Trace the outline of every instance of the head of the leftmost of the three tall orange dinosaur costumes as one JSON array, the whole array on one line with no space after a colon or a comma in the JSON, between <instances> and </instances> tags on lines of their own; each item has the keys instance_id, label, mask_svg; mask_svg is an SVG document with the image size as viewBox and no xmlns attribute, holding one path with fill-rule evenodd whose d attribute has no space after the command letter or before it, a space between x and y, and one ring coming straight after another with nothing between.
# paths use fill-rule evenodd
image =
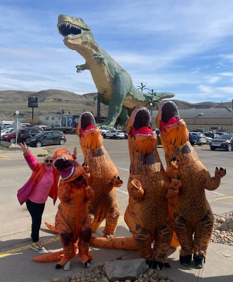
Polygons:
<instances>
[{"instance_id":1,"label":"head of the leftmost of the three tall orange dinosaur costumes","mask_svg":"<svg viewBox=\"0 0 233 282\"><path fill-rule=\"evenodd\" d=\"M79 116L77 135L81 148L97 149L102 146L103 137L96 126L93 115L89 112L84 112Z\"/></svg>"}]
</instances>

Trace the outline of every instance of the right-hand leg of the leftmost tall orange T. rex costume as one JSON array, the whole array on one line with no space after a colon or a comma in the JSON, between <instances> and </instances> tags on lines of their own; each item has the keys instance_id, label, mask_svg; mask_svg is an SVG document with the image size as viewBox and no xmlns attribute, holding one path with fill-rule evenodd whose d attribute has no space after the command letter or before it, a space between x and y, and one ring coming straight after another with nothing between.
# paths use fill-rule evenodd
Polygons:
<instances>
[{"instance_id":1,"label":"right-hand leg of the leftmost tall orange T. rex costume","mask_svg":"<svg viewBox=\"0 0 233 282\"><path fill-rule=\"evenodd\" d=\"M112 206L105 214L106 225L105 229L103 230L104 237L114 237L119 216L120 208L116 198L114 206Z\"/></svg>"}]
</instances>

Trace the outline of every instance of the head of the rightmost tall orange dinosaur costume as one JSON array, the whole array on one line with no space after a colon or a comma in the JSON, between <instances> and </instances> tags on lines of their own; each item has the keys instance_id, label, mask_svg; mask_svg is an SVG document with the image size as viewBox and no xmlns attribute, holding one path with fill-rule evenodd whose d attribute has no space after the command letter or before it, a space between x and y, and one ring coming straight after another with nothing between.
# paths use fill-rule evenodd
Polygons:
<instances>
[{"instance_id":1,"label":"head of the rightmost tall orange dinosaur costume","mask_svg":"<svg viewBox=\"0 0 233 282\"><path fill-rule=\"evenodd\" d=\"M186 123L180 118L177 105L172 101L160 104L156 124L162 142L170 145L183 145L188 141Z\"/></svg>"}]
</instances>

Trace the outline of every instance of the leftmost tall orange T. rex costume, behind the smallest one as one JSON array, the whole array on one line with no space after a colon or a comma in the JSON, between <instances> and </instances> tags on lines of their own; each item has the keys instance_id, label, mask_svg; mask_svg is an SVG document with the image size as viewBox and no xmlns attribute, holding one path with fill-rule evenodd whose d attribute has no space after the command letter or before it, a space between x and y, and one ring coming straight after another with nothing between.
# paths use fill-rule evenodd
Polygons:
<instances>
[{"instance_id":1,"label":"leftmost tall orange T. rex costume, behind the smallest one","mask_svg":"<svg viewBox=\"0 0 233 282\"><path fill-rule=\"evenodd\" d=\"M103 146L103 137L91 113L80 115L77 135L84 155L84 168L89 176L88 184L94 191L94 198L89 201L88 207L92 231L96 232L106 219L104 237L113 238L120 215L115 187L120 187L122 181Z\"/></svg>"}]
</instances>

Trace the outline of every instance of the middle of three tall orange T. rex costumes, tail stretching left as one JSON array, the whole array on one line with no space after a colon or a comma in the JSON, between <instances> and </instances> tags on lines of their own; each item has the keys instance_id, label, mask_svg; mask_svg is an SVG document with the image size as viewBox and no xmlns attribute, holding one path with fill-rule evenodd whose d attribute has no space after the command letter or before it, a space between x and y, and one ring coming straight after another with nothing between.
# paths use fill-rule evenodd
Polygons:
<instances>
[{"instance_id":1,"label":"middle of three tall orange T. rex costumes, tail stretching left","mask_svg":"<svg viewBox=\"0 0 233 282\"><path fill-rule=\"evenodd\" d=\"M161 270L171 244L173 228L168 215L168 198L178 193L181 181L168 179L158 155L157 134L151 130L151 117L145 107L137 107L126 122L130 154L128 180L129 204L125 222L147 266L157 264ZM154 247L151 243L155 240ZM133 249L129 237L94 238L92 243L104 247ZM153 263L154 261L154 263Z\"/></svg>"}]
</instances>

